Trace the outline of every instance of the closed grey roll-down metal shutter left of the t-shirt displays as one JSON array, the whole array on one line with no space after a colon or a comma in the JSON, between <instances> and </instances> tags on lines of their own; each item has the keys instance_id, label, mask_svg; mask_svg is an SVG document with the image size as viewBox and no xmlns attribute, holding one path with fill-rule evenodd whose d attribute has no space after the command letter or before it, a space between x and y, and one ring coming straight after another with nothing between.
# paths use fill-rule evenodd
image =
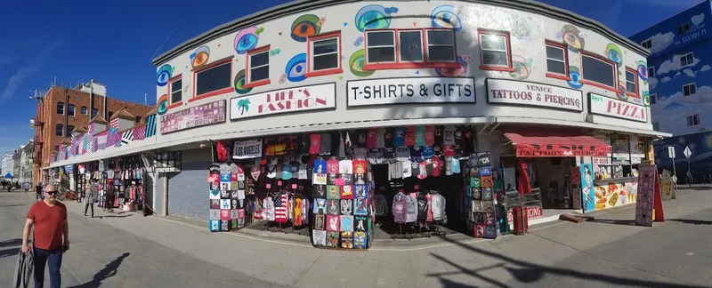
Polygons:
<instances>
[{"instance_id":1,"label":"closed grey roll-down metal shutter left of the t-shirt displays","mask_svg":"<svg viewBox=\"0 0 712 288\"><path fill-rule=\"evenodd\" d=\"M181 172L168 173L168 215L206 221L210 149L181 151L181 162Z\"/></svg>"}]
</instances>

